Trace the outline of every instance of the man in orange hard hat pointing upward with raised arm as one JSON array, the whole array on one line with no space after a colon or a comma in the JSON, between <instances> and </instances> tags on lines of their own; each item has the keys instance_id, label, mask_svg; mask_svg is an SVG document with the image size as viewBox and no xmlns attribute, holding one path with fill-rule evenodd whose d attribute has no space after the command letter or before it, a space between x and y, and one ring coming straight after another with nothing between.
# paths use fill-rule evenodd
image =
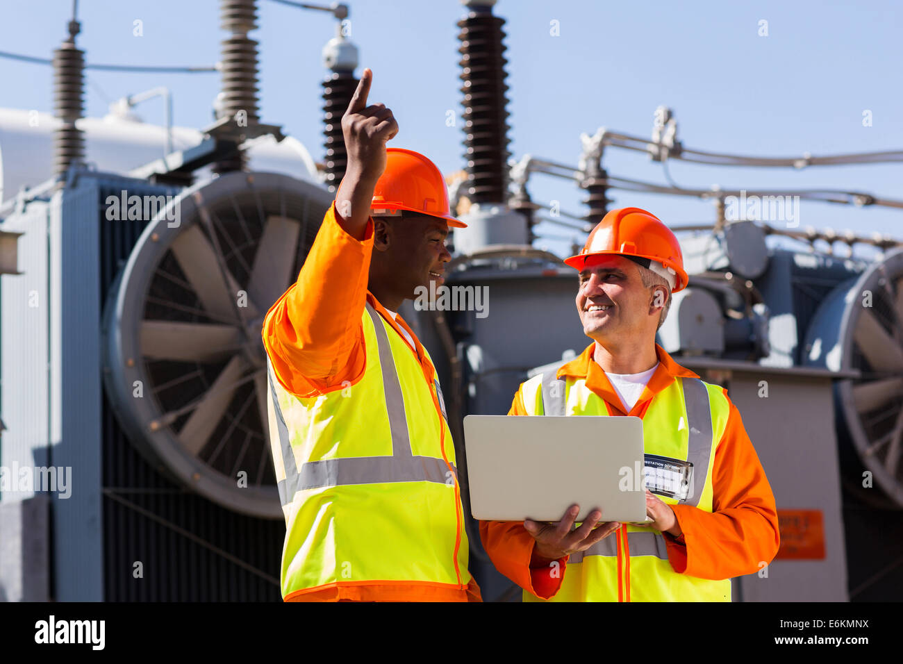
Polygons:
<instances>
[{"instance_id":1,"label":"man in orange hard hat pointing upward with raised arm","mask_svg":"<svg viewBox=\"0 0 903 664\"><path fill-rule=\"evenodd\" d=\"M430 354L396 312L442 283L452 217L435 164L388 148L364 70L349 162L298 280L266 314L285 601L479 601Z\"/></svg>"}]
</instances>

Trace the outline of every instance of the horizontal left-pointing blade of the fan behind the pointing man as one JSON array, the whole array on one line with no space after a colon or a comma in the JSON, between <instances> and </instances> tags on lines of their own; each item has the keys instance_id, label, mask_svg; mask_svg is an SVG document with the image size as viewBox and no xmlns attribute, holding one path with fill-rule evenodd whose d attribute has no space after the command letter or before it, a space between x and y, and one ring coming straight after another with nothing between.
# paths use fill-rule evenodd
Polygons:
<instances>
[{"instance_id":1,"label":"horizontal left-pointing blade of the fan behind the pointing man","mask_svg":"<svg viewBox=\"0 0 903 664\"><path fill-rule=\"evenodd\" d=\"M242 342L232 325L142 321L141 354L154 360L210 362L234 354Z\"/></svg>"}]
</instances>

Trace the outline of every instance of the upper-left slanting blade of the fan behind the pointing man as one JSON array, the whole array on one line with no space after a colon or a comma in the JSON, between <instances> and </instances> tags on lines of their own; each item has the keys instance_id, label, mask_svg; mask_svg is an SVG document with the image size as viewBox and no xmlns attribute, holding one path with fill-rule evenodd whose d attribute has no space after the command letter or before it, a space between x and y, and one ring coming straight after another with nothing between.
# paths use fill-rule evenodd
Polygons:
<instances>
[{"instance_id":1,"label":"upper-left slanting blade of the fan behind the pointing man","mask_svg":"<svg viewBox=\"0 0 903 664\"><path fill-rule=\"evenodd\" d=\"M235 320L240 289L234 285L234 278L231 284L223 279L217 252L203 231L197 225L189 226L179 233L171 248L204 311L219 320Z\"/></svg>"}]
</instances>

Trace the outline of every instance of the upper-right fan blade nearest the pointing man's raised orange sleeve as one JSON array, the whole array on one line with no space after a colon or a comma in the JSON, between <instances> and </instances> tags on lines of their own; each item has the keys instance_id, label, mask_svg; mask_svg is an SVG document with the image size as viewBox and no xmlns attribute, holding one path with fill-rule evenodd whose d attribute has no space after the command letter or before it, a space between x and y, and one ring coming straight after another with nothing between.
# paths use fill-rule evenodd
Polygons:
<instances>
[{"instance_id":1,"label":"upper-right fan blade nearest the pointing man's raised orange sleeve","mask_svg":"<svg viewBox=\"0 0 903 664\"><path fill-rule=\"evenodd\" d=\"M267 218L247 285L247 294L261 311L268 310L292 283L300 233L301 224L296 220Z\"/></svg>"}]
</instances>

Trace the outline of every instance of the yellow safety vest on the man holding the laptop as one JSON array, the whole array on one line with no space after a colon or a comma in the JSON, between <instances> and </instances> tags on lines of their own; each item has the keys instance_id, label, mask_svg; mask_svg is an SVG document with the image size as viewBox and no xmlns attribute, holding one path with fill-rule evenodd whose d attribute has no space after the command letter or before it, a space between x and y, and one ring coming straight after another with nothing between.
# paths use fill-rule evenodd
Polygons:
<instances>
[{"instance_id":1,"label":"yellow safety vest on the man holding the laptop","mask_svg":"<svg viewBox=\"0 0 903 664\"><path fill-rule=\"evenodd\" d=\"M586 387L585 379L560 380L555 371L548 371L527 380L521 390L527 415L609 415L604 399ZM700 379L675 379L652 398L643 416L644 452L693 463L688 498L658 498L712 511L712 464L729 411L721 388ZM730 602L731 579L677 574L668 562L665 537L652 528L628 525L626 537L620 528L571 554L552 599L525 590L524 601Z\"/></svg>"}]
</instances>

